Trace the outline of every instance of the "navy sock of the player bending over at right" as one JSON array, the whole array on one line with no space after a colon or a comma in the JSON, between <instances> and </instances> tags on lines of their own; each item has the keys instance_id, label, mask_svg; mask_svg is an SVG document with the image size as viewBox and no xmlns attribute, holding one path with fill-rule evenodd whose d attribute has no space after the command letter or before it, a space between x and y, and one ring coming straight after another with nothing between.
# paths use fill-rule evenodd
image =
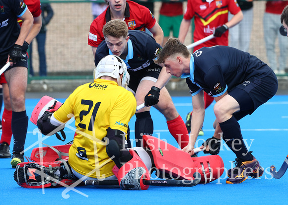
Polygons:
<instances>
[{"instance_id":1,"label":"navy sock of the player bending over at right","mask_svg":"<svg viewBox=\"0 0 288 205\"><path fill-rule=\"evenodd\" d=\"M223 139L229 148L242 161L249 161L251 155L244 144L241 129L238 121L232 116L229 120L219 123L223 132ZM234 143L233 143L234 142Z\"/></svg>"}]
</instances>

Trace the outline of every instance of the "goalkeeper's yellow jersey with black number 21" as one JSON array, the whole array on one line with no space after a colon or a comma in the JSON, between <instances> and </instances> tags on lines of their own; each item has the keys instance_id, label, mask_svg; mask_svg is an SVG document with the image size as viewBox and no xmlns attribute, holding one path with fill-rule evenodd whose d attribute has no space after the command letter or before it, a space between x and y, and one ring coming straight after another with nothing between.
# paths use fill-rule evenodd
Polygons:
<instances>
[{"instance_id":1,"label":"goalkeeper's yellow jersey with black number 21","mask_svg":"<svg viewBox=\"0 0 288 205\"><path fill-rule=\"evenodd\" d=\"M127 134L128 123L136 112L132 92L111 80L96 79L76 88L54 113L66 123L74 115L76 136L69 150L69 164L79 174L93 178L113 175L115 163L106 152L106 130ZM126 135L127 137L127 135Z\"/></svg>"}]
</instances>

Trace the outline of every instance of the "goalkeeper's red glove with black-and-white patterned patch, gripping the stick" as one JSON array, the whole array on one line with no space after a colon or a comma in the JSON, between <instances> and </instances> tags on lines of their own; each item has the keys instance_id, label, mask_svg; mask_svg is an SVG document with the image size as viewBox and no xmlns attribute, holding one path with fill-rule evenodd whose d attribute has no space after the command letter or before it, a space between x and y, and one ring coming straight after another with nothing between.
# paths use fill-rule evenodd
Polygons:
<instances>
[{"instance_id":1,"label":"goalkeeper's red glove with black-and-white patterned patch, gripping the stick","mask_svg":"<svg viewBox=\"0 0 288 205\"><path fill-rule=\"evenodd\" d=\"M147 190L149 186L143 184L143 179L150 180L149 171L138 154L130 149L133 158L126 162L120 169L113 168L113 173L118 179L123 190Z\"/></svg>"}]
</instances>

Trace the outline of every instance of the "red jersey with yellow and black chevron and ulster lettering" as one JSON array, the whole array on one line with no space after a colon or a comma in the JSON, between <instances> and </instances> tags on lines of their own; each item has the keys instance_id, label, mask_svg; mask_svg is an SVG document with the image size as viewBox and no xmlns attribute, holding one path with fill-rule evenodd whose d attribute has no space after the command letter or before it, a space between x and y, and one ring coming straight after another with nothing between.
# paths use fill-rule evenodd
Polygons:
<instances>
[{"instance_id":1,"label":"red jersey with yellow and black chevron and ulster lettering","mask_svg":"<svg viewBox=\"0 0 288 205\"><path fill-rule=\"evenodd\" d=\"M240 11L236 0L213 0L212 2L203 2L202 0L188 0L184 19L194 18L195 31L194 42L199 41L206 36L213 34L214 30L228 22L228 12L233 15ZM194 47L194 51L202 47L210 46L228 46L228 31L221 37L213 38L199 46Z\"/></svg>"}]
</instances>

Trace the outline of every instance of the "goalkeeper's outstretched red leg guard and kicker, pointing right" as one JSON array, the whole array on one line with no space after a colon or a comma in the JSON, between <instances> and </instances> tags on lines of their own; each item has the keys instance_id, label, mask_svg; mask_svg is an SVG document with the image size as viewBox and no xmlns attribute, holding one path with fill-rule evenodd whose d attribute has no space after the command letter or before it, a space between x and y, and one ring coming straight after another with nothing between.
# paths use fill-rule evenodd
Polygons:
<instances>
[{"instance_id":1,"label":"goalkeeper's outstretched red leg guard and kicker, pointing right","mask_svg":"<svg viewBox=\"0 0 288 205\"><path fill-rule=\"evenodd\" d=\"M219 155L190 157L187 152L147 135L143 136L143 145L150 150L153 156L152 164L161 176L192 180L193 174L199 172L200 183L206 184L218 179L224 172L224 163Z\"/></svg>"}]
</instances>

